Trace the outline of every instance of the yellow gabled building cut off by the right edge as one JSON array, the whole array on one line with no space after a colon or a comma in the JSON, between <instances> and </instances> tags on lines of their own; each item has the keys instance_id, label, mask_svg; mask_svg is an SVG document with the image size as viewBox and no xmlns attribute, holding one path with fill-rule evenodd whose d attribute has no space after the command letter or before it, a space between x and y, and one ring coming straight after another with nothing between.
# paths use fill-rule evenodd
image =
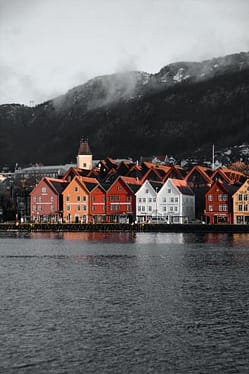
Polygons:
<instances>
[{"instance_id":1,"label":"yellow gabled building cut off by the right edge","mask_svg":"<svg viewBox=\"0 0 249 374\"><path fill-rule=\"evenodd\" d=\"M233 194L233 222L249 224L249 179Z\"/></svg>"}]
</instances>

